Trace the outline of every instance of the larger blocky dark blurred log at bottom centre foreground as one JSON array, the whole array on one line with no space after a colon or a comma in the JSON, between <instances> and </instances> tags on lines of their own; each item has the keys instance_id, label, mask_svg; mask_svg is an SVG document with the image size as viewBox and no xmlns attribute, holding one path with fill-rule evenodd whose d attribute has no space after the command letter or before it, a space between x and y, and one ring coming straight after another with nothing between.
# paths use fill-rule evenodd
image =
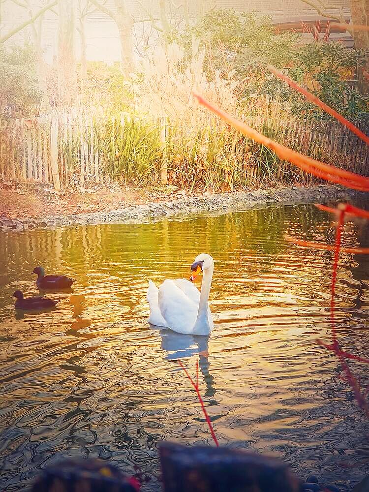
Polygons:
<instances>
[{"instance_id":1,"label":"larger blocky dark blurred log at bottom centre foreground","mask_svg":"<svg viewBox=\"0 0 369 492\"><path fill-rule=\"evenodd\" d=\"M173 443L160 446L165 492L298 492L301 482L282 461L253 453Z\"/></svg>"}]
</instances>

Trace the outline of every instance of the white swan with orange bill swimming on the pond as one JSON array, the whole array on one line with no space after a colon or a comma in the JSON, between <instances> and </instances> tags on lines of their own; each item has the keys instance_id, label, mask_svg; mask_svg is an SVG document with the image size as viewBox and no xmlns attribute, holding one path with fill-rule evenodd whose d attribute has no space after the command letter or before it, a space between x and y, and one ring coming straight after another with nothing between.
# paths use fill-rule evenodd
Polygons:
<instances>
[{"instance_id":1,"label":"white swan with orange bill swimming on the pond","mask_svg":"<svg viewBox=\"0 0 369 492\"><path fill-rule=\"evenodd\" d=\"M190 281L184 278L164 280L157 288L149 280L146 299L150 304L149 323L170 328L174 332L209 335L214 328L212 313L208 306L214 261L209 254L196 256L191 265ZM192 281L203 272L201 293Z\"/></svg>"}]
</instances>

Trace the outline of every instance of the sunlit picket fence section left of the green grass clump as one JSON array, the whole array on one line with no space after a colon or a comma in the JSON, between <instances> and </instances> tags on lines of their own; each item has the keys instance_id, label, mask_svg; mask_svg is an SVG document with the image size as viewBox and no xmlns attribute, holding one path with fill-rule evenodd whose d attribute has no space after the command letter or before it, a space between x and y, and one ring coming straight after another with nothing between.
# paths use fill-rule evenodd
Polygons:
<instances>
[{"instance_id":1,"label":"sunlit picket fence section left of the green grass clump","mask_svg":"<svg viewBox=\"0 0 369 492\"><path fill-rule=\"evenodd\" d=\"M0 176L4 180L50 183L60 191L104 179L91 118L62 114L3 121L0 137ZM74 162L68 159L70 151L75 154Z\"/></svg>"}]
</instances>

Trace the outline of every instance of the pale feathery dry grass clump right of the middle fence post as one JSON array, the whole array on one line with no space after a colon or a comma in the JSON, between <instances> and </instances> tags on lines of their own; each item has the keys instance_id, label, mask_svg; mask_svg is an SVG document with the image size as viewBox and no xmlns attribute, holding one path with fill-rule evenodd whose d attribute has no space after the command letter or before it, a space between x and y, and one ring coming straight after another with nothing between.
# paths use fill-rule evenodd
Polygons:
<instances>
[{"instance_id":1,"label":"pale feathery dry grass clump right of the middle fence post","mask_svg":"<svg viewBox=\"0 0 369 492\"><path fill-rule=\"evenodd\" d=\"M269 150L240 138L204 111L191 92L204 94L270 136L275 136L281 120L291 122L289 108L257 93L243 98L243 88L233 70L226 74L215 71L209 80L203 69L204 58L205 52L193 39L189 58L172 43L142 64L135 109L141 117L150 120L159 115L166 121L170 182L215 191L292 183L296 178L301 181L302 177L287 166L280 171Z\"/></svg>"}]
</instances>

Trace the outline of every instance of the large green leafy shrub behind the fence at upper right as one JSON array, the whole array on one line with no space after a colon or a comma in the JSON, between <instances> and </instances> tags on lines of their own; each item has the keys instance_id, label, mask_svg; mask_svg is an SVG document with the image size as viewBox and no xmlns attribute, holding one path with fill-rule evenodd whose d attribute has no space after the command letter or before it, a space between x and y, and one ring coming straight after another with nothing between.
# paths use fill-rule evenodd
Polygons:
<instances>
[{"instance_id":1,"label":"large green leafy shrub behind the fence at upper right","mask_svg":"<svg viewBox=\"0 0 369 492\"><path fill-rule=\"evenodd\" d=\"M347 49L335 42L304 44L298 34L276 33L268 16L257 12L237 14L233 10L212 10L185 30L179 39L187 54L193 37L199 39L205 50L204 69L208 77L212 78L216 70L226 75L234 69L242 83L243 97L280 99L289 103L300 118L329 118L270 75L266 66L272 63L347 118L368 115L368 95L360 95L347 82L355 77L357 66L365 64L365 50Z\"/></svg>"}]
</instances>

